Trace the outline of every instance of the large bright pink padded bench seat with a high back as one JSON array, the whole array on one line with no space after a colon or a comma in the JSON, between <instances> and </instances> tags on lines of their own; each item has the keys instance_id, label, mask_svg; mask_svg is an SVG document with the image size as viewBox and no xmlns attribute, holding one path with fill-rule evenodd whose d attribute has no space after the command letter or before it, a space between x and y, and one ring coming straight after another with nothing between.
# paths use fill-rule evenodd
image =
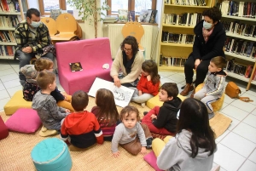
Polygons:
<instances>
[{"instance_id":1,"label":"large bright pink padded bench seat with a high back","mask_svg":"<svg viewBox=\"0 0 256 171\"><path fill-rule=\"evenodd\" d=\"M60 83L67 94L78 90L89 92L96 77L112 81L110 67L113 61L108 38L56 43L55 48ZM77 62L83 70L71 71L69 64Z\"/></svg>"}]
</instances>

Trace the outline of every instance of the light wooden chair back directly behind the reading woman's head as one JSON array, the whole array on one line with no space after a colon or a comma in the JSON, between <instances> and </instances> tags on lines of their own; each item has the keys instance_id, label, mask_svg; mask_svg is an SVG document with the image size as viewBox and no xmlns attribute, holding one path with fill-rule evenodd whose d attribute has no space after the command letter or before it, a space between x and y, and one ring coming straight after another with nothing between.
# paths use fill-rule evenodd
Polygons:
<instances>
[{"instance_id":1,"label":"light wooden chair back directly behind the reading woman's head","mask_svg":"<svg viewBox=\"0 0 256 171\"><path fill-rule=\"evenodd\" d=\"M143 46L140 44L141 39L144 35L143 26L137 21L130 21L125 24L122 28L122 34L124 37L133 36L137 39L140 51L145 51Z\"/></svg>"}]
</instances>

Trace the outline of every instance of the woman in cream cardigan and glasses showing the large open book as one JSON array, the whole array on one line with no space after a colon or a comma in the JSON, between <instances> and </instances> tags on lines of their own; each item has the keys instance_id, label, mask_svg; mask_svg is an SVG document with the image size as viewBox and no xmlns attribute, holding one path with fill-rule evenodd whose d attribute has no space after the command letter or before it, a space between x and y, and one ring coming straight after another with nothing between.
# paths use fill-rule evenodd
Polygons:
<instances>
[{"instance_id":1,"label":"woman in cream cardigan and glasses showing the large open book","mask_svg":"<svg viewBox=\"0 0 256 171\"><path fill-rule=\"evenodd\" d=\"M136 88L143 61L143 53L138 49L136 38L125 37L111 66L110 75L113 77L114 85Z\"/></svg>"}]
</instances>

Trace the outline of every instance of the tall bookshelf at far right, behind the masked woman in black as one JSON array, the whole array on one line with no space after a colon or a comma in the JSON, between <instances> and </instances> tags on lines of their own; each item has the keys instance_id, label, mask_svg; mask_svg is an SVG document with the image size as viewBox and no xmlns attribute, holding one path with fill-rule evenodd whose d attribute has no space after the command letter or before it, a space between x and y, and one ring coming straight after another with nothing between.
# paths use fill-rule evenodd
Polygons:
<instances>
[{"instance_id":1,"label":"tall bookshelf at far right, behind the masked woman in black","mask_svg":"<svg viewBox=\"0 0 256 171\"><path fill-rule=\"evenodd\" d=\"M233 23L238 23L239 25L244 25L244 26L255 26L256 27L256 18L255 16L253 17L252 15L248 15L247 17L244 16L244 12L246 9L244 9L244 6L241 6L241 2L243 1L234 1L236 2L236 5L238 6L237 9L232 8L230 6L230 3L229 3L229 8L226 9L225 7L227 6L227 4L224 4L224 3L227 3L227 2L224 2L222 1L221 3L221 6L220 6L220 9L222 10L222 13L223 13L223 16L222 16L222 20L221 22L233 22ZM233 4L234 4L233 2ZM254 3L254 5L256 5L255 1L253 0L247 0L245 3ZM252 5L252 4L251 4ZM230 11L230 8L232 9ZM246 14L250 14L252 13L252 11L248 11L246 12ZM236 27L236 28L235 28ZM251 47L251 51L247 51L247 55L241 55L239 53L237 53L238 49L239 49L239 44L238 43L233 43L233 46L234 44L236 44L235 48L232 48L232 50L229 50L229 52L227 52L227 49L229 49L229 46L225 45L225 55L226 55L226 58L227 60L231 60L231 59L235 59L235 61L237 63L240 63L241 65L244 65L244 66L253 66L253 69L252 69L252 73L251 73L251 76L250 77L245 77L245 73L241 73L241 74L238 74L238 73L234 73L236 72L235 69L234 71L229 71L228 72L228 77L234 77L238 80L241 80L243 82L246 82L247 83L247 90L250 88L251 84L253 85L256 85L256 81L253 80L253 73L254 71L256 71L256 58L253 58L253 53L256 53L255 52L255 49L256 49L256 37L253 37L253 30L252 31L252 34L251 35L247 35L247 36L244 36L242 35L244 32L242 32L242 27L241 26L235 26L232 31L227 31L227 28L224 28L226 29L226 36L227 38L230 38L231 40L234 39L236 42L247 42L247 49L249 48L249 43L252 43L253 46ZM239 29L237 28L240 28L241 31L238 31ZM251 27L253 28L253 27ZM237 29L237 31L236 31ZM246 30L246 29L244 29ZM250 29L249 29L250 30ZM250 32L250 31L249 31ZM228 42L228 41L227 41ZM228 44L228 43L225 43L225 44ZM232 44L232 43L230 43ZM237 45L238 44L238 45ZM231 46L231 45L230 45ZM237 48L236 48L237 47ZM254 48L255 49L254 49ZM235 49L235 52L234 52L234 49ZM233 51L233 52L232 52ZM249 52L249 53L248 53ZM243 71L242 71L243 72Z\"/></svg>"}]
</instances>

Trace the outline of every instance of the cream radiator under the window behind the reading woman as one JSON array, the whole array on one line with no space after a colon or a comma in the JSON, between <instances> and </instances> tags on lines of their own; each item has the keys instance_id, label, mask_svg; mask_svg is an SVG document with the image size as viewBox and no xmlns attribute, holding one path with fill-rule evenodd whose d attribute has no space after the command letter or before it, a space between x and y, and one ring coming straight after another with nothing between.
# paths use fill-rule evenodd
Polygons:
<instances>
[{"instance_id":1,"label":"cream radiator under the window behind the reading woman","mask_svg":"<svg viewBox=\"0 0 256 171\"><path fill-rule=\"evenodd\" d=\"M115 58L115 55L120 47L120 43L124 40L125 37L122 35L122 28L125 24L107 24L104 26L104 37L108 37L110 41L111 55L112 58ZM152 25L143 25L144 35L141 40L141 45L145 49L144 58L145 60L150 60L150 55L152 47L157 35L157 29ZM156 48L156 46L154 46Z\"/></svg>"}]
</instances>

